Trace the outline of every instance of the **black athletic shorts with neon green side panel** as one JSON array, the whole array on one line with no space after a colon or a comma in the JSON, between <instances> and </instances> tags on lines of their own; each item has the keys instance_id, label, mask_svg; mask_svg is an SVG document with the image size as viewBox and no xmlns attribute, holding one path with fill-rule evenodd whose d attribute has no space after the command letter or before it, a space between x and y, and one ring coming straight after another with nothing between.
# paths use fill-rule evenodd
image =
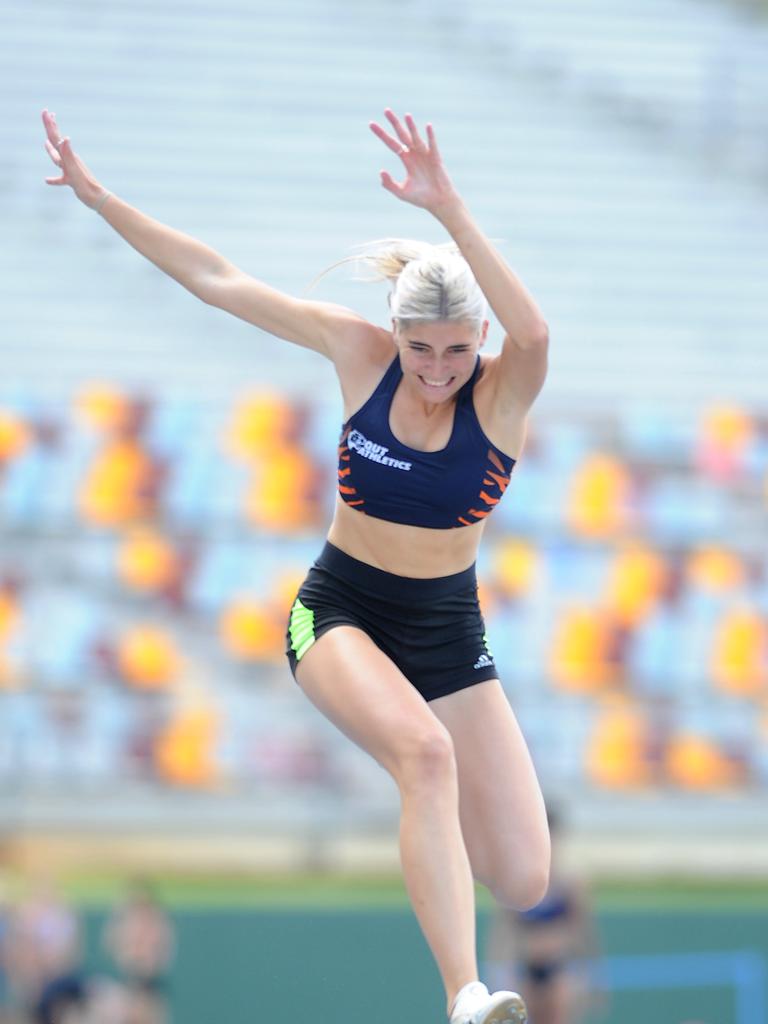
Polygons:
<instances>
[{"instance_id":1,"label":"black athletic shorts with neon green side panel","mask_svg":"<svg viewBox=\"0 0 768 1024\"><path fill-rule=\"evenodd\" d=\"M426 700L497 678L474 565L447 577L400 577L326 542L291 610L286 653L294 678L334 626L367 633Z\"/></svg>"}]
</instances>

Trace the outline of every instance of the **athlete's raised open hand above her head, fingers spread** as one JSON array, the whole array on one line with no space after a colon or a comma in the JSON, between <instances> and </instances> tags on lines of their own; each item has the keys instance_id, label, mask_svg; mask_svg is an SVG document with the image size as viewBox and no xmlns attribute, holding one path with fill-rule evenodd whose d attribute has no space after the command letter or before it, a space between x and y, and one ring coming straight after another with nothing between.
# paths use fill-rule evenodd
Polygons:
<instances>
[{"instance_id":1,"label":"athlete's raised open hand above her head, fingers spread","mask_svg":"<svg viewBox=\"0 0 768 1024\"><path fill-rule=\"evenodd\" d=\"M442 166L432 125L427 125L425 142L410 114L406 115L404 126L389 108L384 114L397 137L394 138L375 121L370 123L371 131L378 135L392 153L397 154L406 167L407 176L400 184L392 179L388 171L382 171L382 185L397 199L420 206L430 213L436 213L446 204L457 202L459 196Z\"/></svg>"}]
</instances>

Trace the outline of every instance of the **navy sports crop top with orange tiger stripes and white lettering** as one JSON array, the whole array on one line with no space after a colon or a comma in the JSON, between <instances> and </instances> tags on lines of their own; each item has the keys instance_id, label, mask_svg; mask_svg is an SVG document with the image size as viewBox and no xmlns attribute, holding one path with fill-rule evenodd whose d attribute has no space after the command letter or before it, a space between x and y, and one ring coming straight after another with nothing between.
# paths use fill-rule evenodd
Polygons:
<instances>
[{"instance_id":1,"label":"navy sports crop top with orange tiger stripes and white lettering","mask_svg":"<svg viewBox=\"0 0 768 1024\"><path fill-rule=\"evenodd\" d=\"M451 529L488 516L507 488L515 459L492 443L477 421L474 373L456 398L454 429L444 449L420 452L389 429L392 396L402 377L397 354L368 401L341 428L339 493L346 504L377 519Z\"/></svg>"}]
</instances>

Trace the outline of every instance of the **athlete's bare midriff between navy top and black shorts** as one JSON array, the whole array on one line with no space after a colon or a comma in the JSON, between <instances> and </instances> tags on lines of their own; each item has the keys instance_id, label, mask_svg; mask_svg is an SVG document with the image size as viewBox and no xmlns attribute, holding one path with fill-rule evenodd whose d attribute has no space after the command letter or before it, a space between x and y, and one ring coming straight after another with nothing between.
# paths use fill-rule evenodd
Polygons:
<instances>
[{"instance_id":1,"label":"athlete's bare midriff between navy top and black shorts","mask_svg":"<svg viewBox=\"0 0 768 1024\"><path fill-rule=\"evenodd\" d=\"M483 526L484 522L456 529L404 526L349 508L337 495L328 540L358 561L423 580L469 568L477 557Z\"/></svg>"}]
</instances>

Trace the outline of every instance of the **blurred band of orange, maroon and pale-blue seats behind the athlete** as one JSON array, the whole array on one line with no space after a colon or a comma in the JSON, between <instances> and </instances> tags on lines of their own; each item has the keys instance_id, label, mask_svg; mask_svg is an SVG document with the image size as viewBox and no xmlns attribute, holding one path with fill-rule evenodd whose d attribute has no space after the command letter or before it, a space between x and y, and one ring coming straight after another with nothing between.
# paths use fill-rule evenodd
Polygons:
<instances>
[{"instance_id":1,"label":"blurred band of orange, maroon and pale-blue seats behind the athlete","mask_svg":"<svg viewBox=\"0 0 768 1024\"><path fill-rule=\"evenodd\" d=\"M307 748L298 693L271 737L279 758L258 735L275 694L295 692L285 622L329 516L336 427L307 400L261 394L188 403L195 429L172 441L172 400L115 388L121 415L84 420L97 399L2 402L5 784L18 764L48 785L117 782L130 764L159 784L316 783L306 759L330 764L334 741ZM736 418L726 430L722 410L703 410L672 452L649 441L667 434L650 412L639 440L621 413L532 423L479 570L492 648L531 734L545 719L557 728L561 701L568 731L579 709L573 756L535 743L556 785L768 783L768 418ZM275 446L290 472L270 468Z\"/></svg>"}]
</instances>

